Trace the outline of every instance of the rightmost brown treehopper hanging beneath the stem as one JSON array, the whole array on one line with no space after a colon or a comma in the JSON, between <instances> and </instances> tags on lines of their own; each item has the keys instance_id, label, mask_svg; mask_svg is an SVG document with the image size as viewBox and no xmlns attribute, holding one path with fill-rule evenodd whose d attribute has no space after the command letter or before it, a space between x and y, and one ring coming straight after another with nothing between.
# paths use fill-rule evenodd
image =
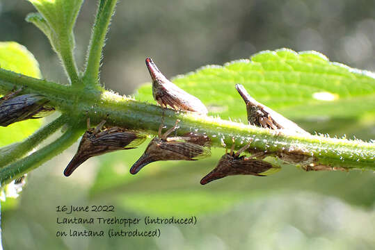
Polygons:
<instances>
[{"instance_id":1,"label":"rightmost brown treehopper hanging beneath the stem","mask_svg":"<svg viewBox=\"0 0 375 250\"><path fill-rule=\"evenodd\" d=\"M247 144L234 153L234 144L230 153L226 152L224 156L218 161L218 165L212 172L209 172L205 177L200 180L200 184L205 185L211 181L215 181L219 178L224 178L226 176L238 175L238 174L250 174L253 176L266 176L262 173L266 172L274 167L271 163L267 163L264 160L257 160L254 158L248 158L245 156L240 156L242 152L246 151L250 147Z\"/></svg>"}]
</instances>

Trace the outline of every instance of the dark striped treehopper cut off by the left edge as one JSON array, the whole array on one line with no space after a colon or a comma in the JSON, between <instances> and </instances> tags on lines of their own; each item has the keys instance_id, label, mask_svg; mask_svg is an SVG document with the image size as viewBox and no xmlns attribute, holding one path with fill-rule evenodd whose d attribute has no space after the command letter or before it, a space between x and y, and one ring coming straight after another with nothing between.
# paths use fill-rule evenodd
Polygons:
<instances>
[{"instance_id":1,"label":"dark striped treehopper cut off by the left edge","mask_svg":"<svg viewBox=\"0 0 375 250\"><path fill-rule=\"evenodd\" d=\"M46 106L49 100L40 94L13 95L14 93L10 93L0 101L0 126L45 117L54 111L54 108Z\"/></svg>"}]
</instances>

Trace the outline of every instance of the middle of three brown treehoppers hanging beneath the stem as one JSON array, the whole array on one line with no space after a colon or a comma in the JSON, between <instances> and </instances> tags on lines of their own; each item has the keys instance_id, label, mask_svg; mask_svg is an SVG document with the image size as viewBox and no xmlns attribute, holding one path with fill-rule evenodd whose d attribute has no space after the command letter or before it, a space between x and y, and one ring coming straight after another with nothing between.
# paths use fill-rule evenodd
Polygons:
<instances>
[{"instance_id":1,"label":"middle of three brown treehoppers hanging beneath the stem","mask_svg":"<svg viewBox=\"0 0 375 250\"><path fill-rule=\"evenodd\" d=\"M159 127L158 136L152 139L145 153L131 167L131 174L138 173L145 165L158 160L198 160L211 155L209 148L189 142L189 137L168 138L168 135L177 129L177 122L163 135L161 135L163 125Z\"/></svg>"}]
</instances>

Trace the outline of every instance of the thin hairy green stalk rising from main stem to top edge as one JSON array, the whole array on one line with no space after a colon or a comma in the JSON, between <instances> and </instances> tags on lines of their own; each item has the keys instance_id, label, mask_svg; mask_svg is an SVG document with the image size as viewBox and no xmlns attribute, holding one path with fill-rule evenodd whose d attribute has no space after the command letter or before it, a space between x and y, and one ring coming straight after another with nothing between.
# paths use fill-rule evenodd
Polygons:
<instances>
[{"instance_id":1,"label":"thin hairy green stalk rising from main stem to top edge","mask_svg":"<svg viewBox=\"0 0 375 250\"><path fill-rule=\"evenodd\" d=\"M104 40L109 24L111 23L111 17L115 11L116 3L117 0L99 1L93 33L91 34L90 44L88 46L86 71L83 76L84 83L86 84L95 85L99 83L99 68L100 60L102 60Z\"/></svg>"}]
</instances>

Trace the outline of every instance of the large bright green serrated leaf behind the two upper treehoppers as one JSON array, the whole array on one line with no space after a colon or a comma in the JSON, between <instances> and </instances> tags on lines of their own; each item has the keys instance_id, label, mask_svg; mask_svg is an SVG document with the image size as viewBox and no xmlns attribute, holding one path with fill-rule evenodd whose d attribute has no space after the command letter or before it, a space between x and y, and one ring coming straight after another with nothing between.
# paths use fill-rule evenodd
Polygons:
<instances>
[{"instance_id":1,"label":"large bright green serrated leaf behind the two upper treehoppers","mask_svg":"<svg viewBox=\"0 0 375 250\"><path fill-rule=\"evenodd\" d=\"M374 74L331 63L315 51L262 51L250 60L202 67L177 76L173 83L205 103L210 115L223 119L247 120L236 83L257 101L292 119L375 114ZM150 84L142 86L136 97L154 102Z\"/></svg>"}]
</instances>

